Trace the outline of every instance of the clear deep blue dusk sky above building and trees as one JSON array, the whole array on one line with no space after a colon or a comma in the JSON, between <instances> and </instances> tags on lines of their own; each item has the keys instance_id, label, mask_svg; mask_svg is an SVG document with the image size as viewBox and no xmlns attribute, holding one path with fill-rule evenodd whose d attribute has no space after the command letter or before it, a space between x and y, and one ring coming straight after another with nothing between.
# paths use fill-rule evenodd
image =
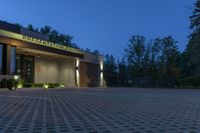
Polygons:
<instances>
[{"instance_id":1,"label":"clear deep blue dusk sky above building and trees","mask_svg":"<svg viewBox=\"0 0 200 133\"><path fill-rule=\"evenodd\" d=\"M121 57L132 35L172 35L184 50L195 0L1 0L0 20L49 25L81 48Z\"/></svg>"}]
</instances>

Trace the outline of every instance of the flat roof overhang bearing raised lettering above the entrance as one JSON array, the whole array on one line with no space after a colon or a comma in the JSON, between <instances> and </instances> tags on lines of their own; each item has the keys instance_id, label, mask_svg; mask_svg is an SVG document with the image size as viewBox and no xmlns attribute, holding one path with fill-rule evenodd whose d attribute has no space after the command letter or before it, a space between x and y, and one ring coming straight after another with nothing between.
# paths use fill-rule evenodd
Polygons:
<instances>
[{"instance_id":1,"label":"flat roof overhang bearing raised lettering above the entrance","mask_svg":"<svg viewBox=\"0 0 200 133\"><path fill-rule=\"evenodd\" d=\"M40 51L51 52L64 56L84 58L83 52L79 49L48 42L45 40L29 37L0 29L0 43L10 44L16 47L35 49Z\"/></svg>"}]
</instances>

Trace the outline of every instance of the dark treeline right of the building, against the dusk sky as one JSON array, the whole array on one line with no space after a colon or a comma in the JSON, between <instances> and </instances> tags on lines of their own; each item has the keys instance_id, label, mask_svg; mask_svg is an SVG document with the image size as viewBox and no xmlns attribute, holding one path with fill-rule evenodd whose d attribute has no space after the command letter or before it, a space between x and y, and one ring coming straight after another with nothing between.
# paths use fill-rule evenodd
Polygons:
<instances>
[{"instance_id":1,"label":"dark treeline right of the building, against the dusk sky","mask_svg":"<svg viewBox=\"0 0 200 133\"><path fill-rule=\"evenodd\" d=\"M104 58L104 77L108 86L199 87L200 86L200 1L195 3L191 35L180 52L172 36L146 40L130 38L124 57Z\"/></svg>"}]
</instances>

